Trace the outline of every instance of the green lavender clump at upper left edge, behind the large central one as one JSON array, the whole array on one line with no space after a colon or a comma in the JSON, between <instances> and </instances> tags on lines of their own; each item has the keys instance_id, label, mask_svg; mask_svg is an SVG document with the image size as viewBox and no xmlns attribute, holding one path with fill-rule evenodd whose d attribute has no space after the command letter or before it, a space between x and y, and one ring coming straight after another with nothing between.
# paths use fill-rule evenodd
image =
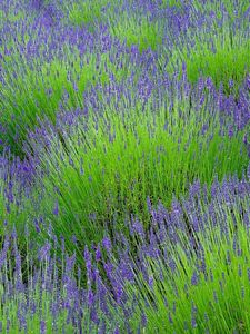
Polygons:
<instances>
[{"instance_id":1,"label":"green lavender clump at upper left edge, behind the large central one","mask_svg":"<svg viewBox=\"0 0 250 334\"><path fill-rule=\"evenodd\" d=\"M39 124L39 119L56 121L56 114L63 108L83 106L82 94L87 86L104 84L110 76L117 80L124 78L130 69L118 68L108 52L99 56L84 53L77 48L63 48L63 57L54 56L48 61L37 58L30 65L27 60L16 69L4 60L4 75L1 87L1 140L16 154L22 149L27 131ZM12 60L13 56L10 57ZM20 63L20 58L19 61ZM123 59L126 63L126 58ZM13 66L13 65L12 65ZM24 86L23 86L24 85Z\"/></svg>"}]
</instances>

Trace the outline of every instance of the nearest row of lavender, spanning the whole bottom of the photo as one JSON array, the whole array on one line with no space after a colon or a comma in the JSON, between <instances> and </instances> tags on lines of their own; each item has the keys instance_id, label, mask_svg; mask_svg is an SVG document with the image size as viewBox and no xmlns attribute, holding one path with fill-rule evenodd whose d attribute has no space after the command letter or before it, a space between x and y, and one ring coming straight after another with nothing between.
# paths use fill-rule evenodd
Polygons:
<instances>
[{"instance_id":1,"label":"nearest row of lavender, spanning the whole bottom of the photo","mask_svg":"<svg viewBox=\"0 0 250 334\"><path fill-rule=\"evenodd\" d=\"M212 331L221 316L227 318L221 332L240 330L241 322L248 328L249 194L250 167L241 180L214 181L210 193L196 183L189 198L174 200L171 212L161 203L152 207L148 199L150 232L136 217L127 222L136 254L123 234L112 242L107 236L92 249L86 246L84 288L82 268L76 254L67 253L63 238L51 235L34 257L23 258L13 230L4 237L0 257L1 330L203 332ZM32 249L29 230L23 237Z\"/></svg>"}]
</instances>

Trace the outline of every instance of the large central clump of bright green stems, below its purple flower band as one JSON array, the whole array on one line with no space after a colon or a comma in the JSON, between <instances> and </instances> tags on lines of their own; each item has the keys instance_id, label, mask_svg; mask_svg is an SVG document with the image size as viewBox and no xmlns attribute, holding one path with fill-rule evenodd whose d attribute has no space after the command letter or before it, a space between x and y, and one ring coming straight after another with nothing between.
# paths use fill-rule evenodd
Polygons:
<instances>
[{"instance_id":1,"label":"large central clump of bright green stems, below its purple flower band","mask_svg":"<svg viewBox=\"0 0 250 334\"><path fill-rule=\"evenodd\" d=\"M241 175L249 160L243 132L229 137L218 112L190 110L188 100L174 104L152 112L152 100L143 108L138 102L121 115L109 107L103 118L90 115L67 131L63 144L51 139L39 155L48 170L44 189L48 196L56 191L54 233L74 235L81 247L100 240L107 228L123 228L127 215L147 225L148 196L169 206L196 178L210 186L216 174Z\"/></svg>"}]
</instances>

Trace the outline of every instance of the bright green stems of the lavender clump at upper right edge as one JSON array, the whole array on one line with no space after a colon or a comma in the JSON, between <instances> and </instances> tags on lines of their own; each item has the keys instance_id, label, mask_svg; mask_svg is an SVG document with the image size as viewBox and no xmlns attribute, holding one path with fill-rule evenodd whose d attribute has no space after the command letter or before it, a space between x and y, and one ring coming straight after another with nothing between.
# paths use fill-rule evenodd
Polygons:
<instances>
[{"instance_id":1,"label":"bright green stems of the lavender clump at upper right edge","mask_svg":"<svg viewBox=\"0 0 250 334\"><path fill-rule=\"evenodd\" d=\"M197 32L198 33L198 32ZM190 43L193 42L193 47ZM167 70L172 72L182 62L187 65L188 80L198 82L200 77L211 77L217 88L223 85L223 91L238 95L246 75L250 69L250 40L244 32L233 32L227 24L210 31L199 31L194 38L187 37L187 42L177 43L169 59ZM230 86L231 80L233 87Z\"/></svg>"}]
</instances>

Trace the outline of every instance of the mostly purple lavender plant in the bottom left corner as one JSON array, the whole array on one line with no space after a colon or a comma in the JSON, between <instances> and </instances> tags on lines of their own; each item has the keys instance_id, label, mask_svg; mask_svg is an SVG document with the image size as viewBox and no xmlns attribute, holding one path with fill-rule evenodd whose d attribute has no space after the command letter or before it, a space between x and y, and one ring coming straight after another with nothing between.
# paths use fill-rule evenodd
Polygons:
<instances>
[{"instance_id":1,"label":"mostly purple lavender plant in the bottom left corner","mask_svg":"<svg viewBox=\"0 0 250 334\"><path fill-rule=\"evenodd\" d=\"M53 245L53 249L56 247L60 248L60 245ZM23 257L17 244L17 235L6 236L0 253L1 331L122 333L124 324L119 305L112 301L94 264L91 265L91 258L87 257L86 265L90 281L87 288L83 288L76 256L69 256L61 247L59 271L59 259L53 256L51 248L52 245L47 242L36 253L36 257L30 257L29 253ZM26 278L23 265L28 271Z\"/></svg>"}]
</instances>

